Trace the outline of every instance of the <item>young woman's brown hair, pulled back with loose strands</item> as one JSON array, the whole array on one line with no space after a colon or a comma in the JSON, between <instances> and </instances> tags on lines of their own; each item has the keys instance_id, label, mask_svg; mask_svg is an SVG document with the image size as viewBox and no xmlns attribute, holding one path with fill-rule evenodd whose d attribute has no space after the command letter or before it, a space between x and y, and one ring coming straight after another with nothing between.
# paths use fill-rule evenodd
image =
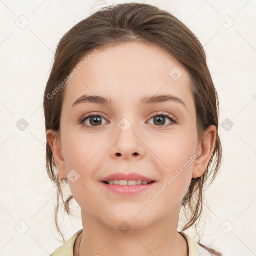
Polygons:
<instances>
[{"instance_id":1,"label":"young woman's brown hair, pulled back with loose strands","mask_svg":"<svg viewBox=\"0 0 256 256\"><path fill-rule=\"evenodd\" d=\"M70 74L78 61L94 49L127 41L141 41L160 46L189 73L189 87L196 107L196 126L198 141L202 142L203 133L210 125L218 130L219 105L203 46L197 37L175 16L156 6L143 3L124 3L103 7L73 26L59 41L54 63L44 92L45 129L59 132L60 114L64 97L64 86L59 86ZM58 90L56 91L56 88ZM59 89L61 87L61 89ZM53 95L53 91L55 91ZM215 148L209 164L201 177L192 178L189 193L182 200L186 217L186 230L199 220L203 206L203 189L207 180L210 185L216 177L222 157L221 142L216 133ZM57 220L59 196L67 214L71 214L70 195L63 199L62 188L67 179L58 177L54 157L47 141L47 173L57 188L55 224L62 235ZM63 241L64 237L62 235Z\"/></svg>"}]
</instances>

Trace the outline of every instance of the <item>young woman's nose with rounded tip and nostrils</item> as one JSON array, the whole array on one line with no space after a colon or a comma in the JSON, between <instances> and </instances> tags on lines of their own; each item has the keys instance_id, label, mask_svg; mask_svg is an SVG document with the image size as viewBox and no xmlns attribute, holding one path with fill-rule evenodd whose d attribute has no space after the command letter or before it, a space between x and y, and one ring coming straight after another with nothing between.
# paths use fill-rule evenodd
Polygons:
<instances>
[{"instance_id":1,"label":"young woman's nose with rounded tip and nostrils","mask_svg":"<svg viewBox=\"0 0 256 256\"><path fill-rule=\"evenodd\" d=\"M117 127L113 143L111 144L111 157L123 160L143 158L145 153L143 139L136 133L134 133L132 125L126 131Z\"/></svg>"}]
</instances>

